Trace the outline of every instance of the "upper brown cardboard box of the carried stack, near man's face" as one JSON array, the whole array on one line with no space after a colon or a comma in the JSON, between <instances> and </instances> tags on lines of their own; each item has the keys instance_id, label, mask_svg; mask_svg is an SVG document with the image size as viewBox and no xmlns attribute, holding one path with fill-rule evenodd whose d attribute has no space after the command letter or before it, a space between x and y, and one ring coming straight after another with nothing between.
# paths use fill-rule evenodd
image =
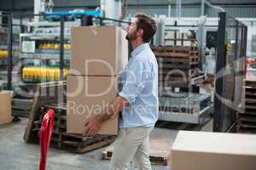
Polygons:
<instances>
[{"instance_id":1,"label":"upper brown cardboard box of the carried stack, near man's face","mask_svg":"<svg viewBox=\"0 0 256 170\"><path fill-rule=\"evenodd\" d=\"M115 26L73 27L70 74L116 76L128 61L126 32Z\"/></svg>"}]
</instances>

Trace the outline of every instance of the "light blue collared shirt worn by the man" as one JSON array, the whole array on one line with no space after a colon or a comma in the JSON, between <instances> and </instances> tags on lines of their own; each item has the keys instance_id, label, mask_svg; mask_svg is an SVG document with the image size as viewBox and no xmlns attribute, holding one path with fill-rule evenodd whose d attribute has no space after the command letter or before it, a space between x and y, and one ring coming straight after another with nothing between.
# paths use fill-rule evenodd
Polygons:
<instances>
[{"instance_id":1,"label":"light blue collared shirt worn by the man","mask_svg":"<svg viewBox=\"0 0 256 170\"><path fill-rule=\"evenodd\" d=\"M159 116L158 65L148 43L132 51L121 77L119 96L130 105L123 109L119 127L154 127Z\"/></svg>"}]
</instances>

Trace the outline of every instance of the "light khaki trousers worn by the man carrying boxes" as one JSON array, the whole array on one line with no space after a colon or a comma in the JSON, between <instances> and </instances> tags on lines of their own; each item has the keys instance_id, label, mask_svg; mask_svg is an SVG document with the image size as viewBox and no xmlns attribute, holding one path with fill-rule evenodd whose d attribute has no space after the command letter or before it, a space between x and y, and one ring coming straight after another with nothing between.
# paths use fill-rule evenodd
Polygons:
<instances>
[{"instance_id":1,"label":"light khaki trousers worn by the man carrying boxes","mask_svg":"<svg viewBox=\"0 0 256 170\"><path fill-rule=\"evenodd\" d=\"M109 170L128 170L135 160L140 170L151 170L149 134L154 127L121 128L115 141Z\"/></svg>"}]
</instances>

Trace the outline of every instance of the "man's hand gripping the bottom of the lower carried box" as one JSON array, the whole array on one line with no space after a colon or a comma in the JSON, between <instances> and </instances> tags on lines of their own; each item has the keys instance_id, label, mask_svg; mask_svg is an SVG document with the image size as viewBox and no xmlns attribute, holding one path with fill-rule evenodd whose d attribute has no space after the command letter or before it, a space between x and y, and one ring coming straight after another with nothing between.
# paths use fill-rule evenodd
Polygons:
<instances>
[{"instance_id":1,"label":"man's hand gripping the bottom of the lower carried box","mask_svg":"<svg viewBox=\"0 0 256 170\"><path fill-rule=\"evenodd\" d=\"M84 132L89 136L95 136L96 132L102 127L103 122L101 115L90 116L84 123Z\"/></svg>"}]
</instances>

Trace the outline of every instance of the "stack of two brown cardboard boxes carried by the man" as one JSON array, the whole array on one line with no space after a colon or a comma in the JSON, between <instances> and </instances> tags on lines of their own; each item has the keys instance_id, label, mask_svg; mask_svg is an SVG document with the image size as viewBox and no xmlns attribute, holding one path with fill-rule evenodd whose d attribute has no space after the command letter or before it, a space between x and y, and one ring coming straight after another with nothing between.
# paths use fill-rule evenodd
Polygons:
<instances>
[{"instance_id":1,"label":"stack of two brown cardboard boxes carried by the man","mask_svg":"<svg viewBox=\"0 0 256 170\"><path fill-rule=\"evenodd\" d=\"M84 122L100 114L119 92L119 72L128 60L126 32L114 26L72 28L71 71L67 76L67 133L84 133ZM98 134L117 134L118 116Z\"/></svg>"}]
</instances>

